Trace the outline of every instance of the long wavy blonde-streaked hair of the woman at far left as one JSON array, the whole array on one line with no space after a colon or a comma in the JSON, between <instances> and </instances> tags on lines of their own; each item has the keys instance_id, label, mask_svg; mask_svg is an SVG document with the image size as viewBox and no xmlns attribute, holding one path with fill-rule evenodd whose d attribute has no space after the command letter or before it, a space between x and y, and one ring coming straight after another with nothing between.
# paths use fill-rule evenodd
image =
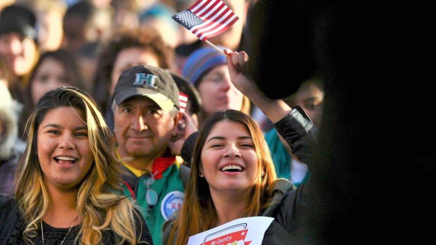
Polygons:
<instances>
[{"instance_id":1,"label":"long wavy blonde-streaked hair of the woman at far left","mask_svg":"<svg viewBox=\"0 0 436 245\"><path fill-rule=\"evenodd\" d=\"M113 157L114 137L91 97L73 87L56 88L47 92L41 97L27 122L27 148L15 177L15 198L25 224L24 240L32 243L40 221L51 205L36 154L36 138L39 124L45 115L60 106L71 106L85 112L89 144L94 156L90 171L78 187L77 211L82 223L76 239L81 237L80 244L101 244L102 231L109 228L115 233L118 244L125 241L137 244L140 236L135 231L134 215L139 214L127 198L116 193L117 190L121 193L122 188L120 163Z\"/></svg>"}]
</instances>

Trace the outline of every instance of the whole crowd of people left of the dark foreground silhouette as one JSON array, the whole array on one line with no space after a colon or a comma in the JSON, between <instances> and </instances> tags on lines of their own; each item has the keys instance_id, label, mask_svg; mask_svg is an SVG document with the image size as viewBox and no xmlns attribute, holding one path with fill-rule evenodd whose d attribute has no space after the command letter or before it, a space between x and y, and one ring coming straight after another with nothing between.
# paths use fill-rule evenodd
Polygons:
<instances>
[{"instance_id":1,"label":"whole crowd of people left of the dark foreground silhouette","mask_svg":"<svg viewBox=\"0 0 436 245\"><path fill-rule=\"evenodd\" d=\"M184 245L251 216L274 218L262 244L299 241L323 75L269 98L256 1L223 0L224 52L171 20L194 2L0 4L0 244Z\"/></svg>"}]
</instances>

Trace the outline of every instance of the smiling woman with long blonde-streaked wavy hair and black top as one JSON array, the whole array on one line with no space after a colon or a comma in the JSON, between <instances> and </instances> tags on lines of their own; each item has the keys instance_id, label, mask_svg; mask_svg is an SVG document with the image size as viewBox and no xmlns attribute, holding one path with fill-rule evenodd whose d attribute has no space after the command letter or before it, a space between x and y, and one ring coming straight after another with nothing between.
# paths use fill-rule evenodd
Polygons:
<instances>
[{"instance_id":1,"label":"smiling woman with long blonde-streaked wavy hair and black top","mask_svg":"<svg viewBox=\"0 0 436 245\"><path fill-rule=\"evenodd\" d=\"M1 241L152 244L139 211L121 195L113 136L86 92L62 87L44 94L27 132L15 196L0 202Z\"/></svg>"}]
</instances>

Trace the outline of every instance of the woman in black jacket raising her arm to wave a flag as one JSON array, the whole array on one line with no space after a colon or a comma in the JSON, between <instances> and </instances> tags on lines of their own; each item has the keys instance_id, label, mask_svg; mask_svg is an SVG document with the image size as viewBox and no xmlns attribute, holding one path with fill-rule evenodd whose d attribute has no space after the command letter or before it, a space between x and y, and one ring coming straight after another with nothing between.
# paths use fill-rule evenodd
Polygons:
<instances>
[{"instance_id":1,"label":"woman in black jacket raising her arm to wave a flag","mask_svg":"<svg viewBox=\"0 0 436 245\"><path fill-rule=\"evenodd\" d=\"M303 110L291 109L255 89L242 73L248 61L245 52L231 56L229 70L236 88L265 112L294 154L307 160L308 148L317 136L313 123ZM295 234L310 184L296 189L288 180L276 178L257 124L248 115L226 110L207 119L198 135L185 205L179 216L164 226L164 243L186 244L189 236L250 216L274 218L262 244L297 243Z\"/></svg>"}]
</instances>

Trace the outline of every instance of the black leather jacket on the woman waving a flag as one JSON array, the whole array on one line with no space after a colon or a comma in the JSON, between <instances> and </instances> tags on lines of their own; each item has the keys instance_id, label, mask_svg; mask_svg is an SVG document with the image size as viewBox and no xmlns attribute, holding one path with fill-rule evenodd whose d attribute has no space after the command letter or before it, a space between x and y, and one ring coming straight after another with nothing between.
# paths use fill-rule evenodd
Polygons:
<instances>
[{"instance_id":1,"label":"black leather jacket on the woman waving a flag","mask_svg":"<svg viewBox=\"0 0 436 245\"><path fill-rule=\"evenodd\" d=\"M310 146L316 142L318 129L300 106L295 106L288 115L274 123L274 127L296 157L310 162ZM310 183L310 178L298 188L286 179L277 179L273 183L273 198L261 216L273 217L274 221L265 231L262 245L299 244L297 231L303 225L301 217L305 212Z\"/></svg>"}]
</instances>

